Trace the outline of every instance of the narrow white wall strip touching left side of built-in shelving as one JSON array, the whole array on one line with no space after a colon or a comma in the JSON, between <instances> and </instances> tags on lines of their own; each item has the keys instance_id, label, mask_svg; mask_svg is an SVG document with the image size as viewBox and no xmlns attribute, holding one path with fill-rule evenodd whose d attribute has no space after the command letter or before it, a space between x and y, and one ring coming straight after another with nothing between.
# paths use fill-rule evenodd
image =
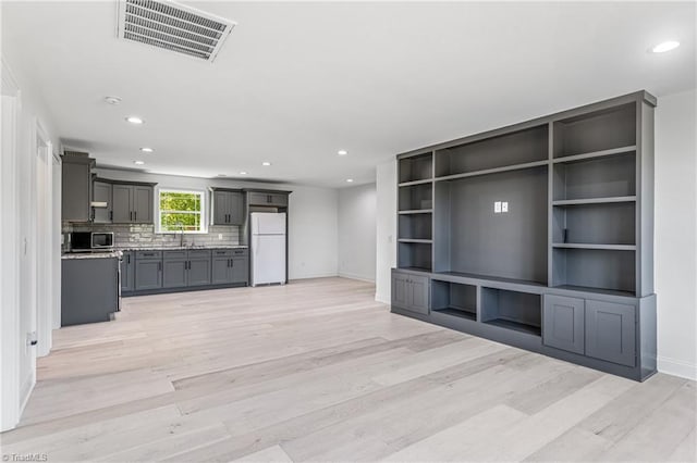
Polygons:
<instances>
[{"instance_id":1,"label":"narrow white wall strip touching left side of built-in shelving","mask_svg":"<svg viewBox=\"0 0 697 463\"><path fill-rule=\"evenodd\" d=\"M390 268L396 266L396 159L376 173L376 300L390 303Z\"/></svg>"}]
</instances>

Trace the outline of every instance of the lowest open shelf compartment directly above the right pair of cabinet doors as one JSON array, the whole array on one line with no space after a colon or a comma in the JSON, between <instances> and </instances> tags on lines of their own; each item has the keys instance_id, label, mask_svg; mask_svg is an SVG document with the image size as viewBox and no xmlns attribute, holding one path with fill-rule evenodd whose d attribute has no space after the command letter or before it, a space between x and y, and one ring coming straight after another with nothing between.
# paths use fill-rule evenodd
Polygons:
<instances>
[{"instance_id":1,"label":"lowest open shelf compartment directly above the right pair of cabinet doors","mask_svg":"<svg viewBox=\"0 0 697 463\"><path fill-rule=\"evenodd\" d=\"M634 250L554 248L552 286L634 296L635 254Z\"/></svg>"}]
</instances>

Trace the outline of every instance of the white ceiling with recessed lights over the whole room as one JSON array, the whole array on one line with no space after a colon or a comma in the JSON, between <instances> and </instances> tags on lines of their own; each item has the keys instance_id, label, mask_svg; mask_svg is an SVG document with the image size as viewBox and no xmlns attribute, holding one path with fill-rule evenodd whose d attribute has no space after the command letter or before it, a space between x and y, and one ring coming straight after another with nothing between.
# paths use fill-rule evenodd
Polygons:
<instances>
[{"instance_id":1,"label":"white ceiling with recessed lights over the whole room","mask_svg":"<svg viewBox=\"0 0 697 463\"><path fill-rule=\"evenodd\" d=\"M185 3L239 24L213 64L117 39L115 1L2 2L2 51L100 165L331 187L433 142L695 87L695 2Z\"/></svg>"}]
</instances>

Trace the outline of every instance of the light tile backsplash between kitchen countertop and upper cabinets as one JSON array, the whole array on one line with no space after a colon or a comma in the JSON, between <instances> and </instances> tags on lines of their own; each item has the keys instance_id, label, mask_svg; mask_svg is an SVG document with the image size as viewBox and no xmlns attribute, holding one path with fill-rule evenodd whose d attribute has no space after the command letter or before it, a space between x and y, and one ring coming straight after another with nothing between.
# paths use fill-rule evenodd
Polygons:
<instances>
[{"instance_id":1,"label":"light tile backsplash between kitchen countertop and upper cabinets","mask_svg":"<svg viewBox=\"0 0 697 463\"><path fill-rule=\"evenodd\" d=\"M179 248L180 234L156 233L152 224L74 224L63 222L62 232L113 232L114 247L131 248ZM243 245L240 227L209 226L206 234L184 234L186 246L236 246Z\"/></svg>"}]
</instances>

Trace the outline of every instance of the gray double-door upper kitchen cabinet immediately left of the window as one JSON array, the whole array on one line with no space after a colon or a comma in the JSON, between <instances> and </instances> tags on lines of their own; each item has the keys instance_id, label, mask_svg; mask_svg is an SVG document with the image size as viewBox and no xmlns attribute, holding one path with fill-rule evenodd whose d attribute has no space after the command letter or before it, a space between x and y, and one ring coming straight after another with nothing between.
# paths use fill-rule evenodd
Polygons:
<instances>
[{"instance_id":1,"label":"gray double-door upper kitchen cabinet immediately left of the window","mask_svg":"<svg viewBox=\"0 0 697 463\"><path fill-rule=\"evenodd\" d=\"M113 183L114 224L151 224L152 195L156 184Z\"/></svg>"}]
</instances>

